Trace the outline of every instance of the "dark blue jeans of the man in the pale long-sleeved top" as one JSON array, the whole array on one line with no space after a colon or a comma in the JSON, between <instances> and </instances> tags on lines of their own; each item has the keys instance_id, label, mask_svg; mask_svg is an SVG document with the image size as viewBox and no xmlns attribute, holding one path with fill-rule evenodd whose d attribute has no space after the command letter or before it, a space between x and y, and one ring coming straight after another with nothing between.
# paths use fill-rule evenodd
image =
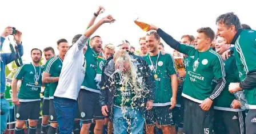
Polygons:
<instances>
[{"instance_id":1,"label":"dark blue jeans of the man in the pale long-sleeved top","mask_svg":"<svg viewBox=\"0 0 256 134\"><path fill-rule=\"evenodd\" d=\"M54 97L53 102L59 125L59 133L71 134L77 110L76 101L74 99Z\"/></svg>"}]
</instances>

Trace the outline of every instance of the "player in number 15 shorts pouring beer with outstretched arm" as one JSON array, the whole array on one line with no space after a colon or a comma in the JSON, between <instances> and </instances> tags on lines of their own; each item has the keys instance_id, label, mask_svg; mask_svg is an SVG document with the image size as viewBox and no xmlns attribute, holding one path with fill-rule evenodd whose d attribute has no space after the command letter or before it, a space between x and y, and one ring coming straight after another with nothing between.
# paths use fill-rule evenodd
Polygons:
<instances>
[{"instance_id":1,"label":"player in number 15 shorts pouring beer with outstretched arm","mask_svg":"<svg viewBox=\"0 0 256 134\"><path fill-rule=\"evenodd\" d=\"M183 85L184 133L213 133L213 100L225 86L225 69L221 56L211 48L215 34L209 27L199 28L194 46L181 44L161 28L151 25L171 48L188 56L187 74ZM217 79L217 86L211 89L211 81ZM193 116L191 116L193 115Z\"/></svg>"}]
</instances>

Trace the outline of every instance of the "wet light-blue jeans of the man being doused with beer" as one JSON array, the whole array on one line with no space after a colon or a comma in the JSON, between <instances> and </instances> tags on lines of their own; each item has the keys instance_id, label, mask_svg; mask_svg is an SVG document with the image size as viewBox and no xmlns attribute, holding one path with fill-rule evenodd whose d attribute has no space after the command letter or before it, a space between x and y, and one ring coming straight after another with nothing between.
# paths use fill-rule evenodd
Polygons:
<instances>
[{"instance_id":1,"label":"wet light-blue jeans of the man being doused with beer","mask_svg":"<svg viewBox=\"0 0 256 134\"><path fill-rule=\"evenodd\" d=\"M114 107L113 111L113 127L115 134L126 134L129 127L130 133L143 133L143 127L145 119L142 118L138 109L125 108L125 114L122 113L122 109ZM127 123L127 118L130 124Z\"/></svg>"}]
</instances>

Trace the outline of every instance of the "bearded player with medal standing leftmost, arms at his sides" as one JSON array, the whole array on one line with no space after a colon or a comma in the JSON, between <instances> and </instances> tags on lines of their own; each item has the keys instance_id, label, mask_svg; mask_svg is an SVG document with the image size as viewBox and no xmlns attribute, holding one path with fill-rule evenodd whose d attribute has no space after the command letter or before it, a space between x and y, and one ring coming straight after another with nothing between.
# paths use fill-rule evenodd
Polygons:
<instances>
[{"instance_id":1,"label":"bearded player with medal standing leftmost, arms at his sides","mask_svg":"<svg viewBox=\"0 0 256 134\"><path fill-rule=\"evenodd\" d=\"M22 133L25 121L29 119L29 134L34 134L37 129L37 120L40 112L40 92L42 86L43 68L39 65L42 51L34 48L31 50L32 61L23 64L16 72L11 89L13 91L13 103L17 105L16 125L14 133ZM22 79L19 95L17 97L17 83Z\"/></svg>"}]
</instances>

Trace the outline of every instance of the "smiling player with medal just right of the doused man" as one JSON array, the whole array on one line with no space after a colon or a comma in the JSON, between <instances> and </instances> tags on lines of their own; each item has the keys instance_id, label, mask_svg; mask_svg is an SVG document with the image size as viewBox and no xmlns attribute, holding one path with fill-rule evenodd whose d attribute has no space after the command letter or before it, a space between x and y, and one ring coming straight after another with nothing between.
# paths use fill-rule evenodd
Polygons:
<instances>
[{"instance_id":1,"label":"smiling player with medal just right of the doused man","mask_svg":"<svg viewBox=\"0 0 256 134\"><path fill-rule=\"evenodd\" d=\"M146 44L149 54L143 58L150 66L155 79L155 100L153 109L147 112L146 133L154 133L154 124L157 122L163 133L176 133L173 123L172 110L177 97L177 72L174 68L173 58L162 55L158 49L160 36L157 32L147 33ZM170 83L171 81L171 83Z\"/></svg>"}]
</instances>

